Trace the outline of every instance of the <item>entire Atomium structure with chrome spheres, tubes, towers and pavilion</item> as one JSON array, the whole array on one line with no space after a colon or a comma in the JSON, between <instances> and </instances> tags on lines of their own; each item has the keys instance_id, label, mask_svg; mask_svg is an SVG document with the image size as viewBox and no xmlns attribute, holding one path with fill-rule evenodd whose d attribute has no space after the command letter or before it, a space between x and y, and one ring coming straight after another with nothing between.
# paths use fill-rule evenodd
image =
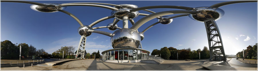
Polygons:
<instances>
[{"instance_id":1,"label":"entire Atomium structure with chrome spheres, tubes, towers and pavilion","mask_svg":"<svg viewBox=\"0 0 258 71\"><path fill-rule=\"evenodd\" d=\"M110 37L111 45L114 49L106 50L102 52L103 60L140 60L148 59L149 51L142 49L141 41L144 39L144 32L146 32L151 27L156 24L170 24L173 22L173 18L181 16L189 16L191 19L204 22L209 49L210 49L210 60L219 60L226 61L224 47L220 35L220 31L216 24L216 20L219 20L224 15L224 11L219 7L234 3L247 3L247 2L257 2L257 1L228 1L218 3L209 7L183 7L183 6L170 6L170 5L160 5L160 6L147 6L147 7L138 7L137 5L132 4L108 4L108 3L36 3L31 1L1 1L1 2L15 2L15 3L28 3L32 4L31 9L38 12L64 12L69 16L73 17L79 24L78 33L81 35L79 41L79 46L77 49L76 58L80 55L82 58L85 56L85 44L87 36L90 36L92 33L103 34ZM108 5L108 6L106 6ZM105 9L110 9L111 16L101 18L91 24L83 25L81 21L70 12L64 11L67 6L91 6L91 7L101 7ZM182 9L176 11L163 11L163 12L153 12L147 9L155 8L173 8L173 9ZM153 14L144 14L138 11L143 10L151 12ZM180 14L176 16L166 16L170 14ZM137 22L134 22L134 18L137 16L143 15L145 17L141 18ZM114 21L107 24L107 26L94 27L95 24L114 18ZM157 18L157 22L148 26L142 32L138 32L138 28L148 22ZM122 20L122 28L118 27L117 22ZM132 27L128 28L128 20L132 23ZM114 31L113 33L98 31L95 29L107 28L108 30ZM117 30L118 29L118 30ZM116 30L116 31L115 31ZM148 39L148 38L147 38ZM141 48L141 49L139 49Z\"/></svg>"}]
</instances>

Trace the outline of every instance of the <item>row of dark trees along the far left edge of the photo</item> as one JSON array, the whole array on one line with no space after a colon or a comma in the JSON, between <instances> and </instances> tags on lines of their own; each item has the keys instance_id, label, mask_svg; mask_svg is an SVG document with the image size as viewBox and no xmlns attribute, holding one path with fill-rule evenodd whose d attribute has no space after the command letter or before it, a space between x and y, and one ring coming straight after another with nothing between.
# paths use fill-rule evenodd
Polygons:
<instances>
[{"instance_id":1,"label":"row of dark trees along the far left edge of the photo","mask_svg":"<svg viewBox=\"0 0 258 71\"><path fill-rule=\"evenodd\" d=\"M19 59L20 47L21 46L21 56L25 58L32 56L36 57L50 57L50 54L45 52L44 49L36 49L36 47L30 46L26 43L13 44L9 40L1 41L1 59Z\"/></svg>"}]
</instances>

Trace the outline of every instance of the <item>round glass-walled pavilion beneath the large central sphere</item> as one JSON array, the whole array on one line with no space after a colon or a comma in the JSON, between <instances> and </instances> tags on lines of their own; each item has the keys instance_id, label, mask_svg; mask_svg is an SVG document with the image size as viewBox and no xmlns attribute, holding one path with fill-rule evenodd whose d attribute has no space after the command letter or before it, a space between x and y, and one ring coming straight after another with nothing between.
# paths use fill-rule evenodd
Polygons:
<instances>
[{"instance_id":1,"label":"round glass-walled pavilion beneath the large central sphere","mask_svg":"<svg viewBox=\"0 0 258 71\"><path fill-rule=\"evenodd\" d=\"M141 60L148 59L148 51L142 49L113 49L103 53L103 60Z\"/></svg>"}]
</instances>

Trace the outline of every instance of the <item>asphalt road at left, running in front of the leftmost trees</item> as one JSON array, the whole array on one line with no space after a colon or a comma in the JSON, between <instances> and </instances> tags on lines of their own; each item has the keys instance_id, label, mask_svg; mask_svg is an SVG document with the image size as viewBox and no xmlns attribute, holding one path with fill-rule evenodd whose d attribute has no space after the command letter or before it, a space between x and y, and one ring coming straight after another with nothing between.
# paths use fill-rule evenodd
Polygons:
<instances>
[{"instance_id":1,"label":"asphalt road at left, running in front of the leftmost trees","mask_svg":"<svg viewBox=\"0 0 258 71\"><path fill-rule=\"evenodd\" d=\"M57 61L57 59L44 59L45 61L42 62L33 62L33 63L24 63L25 66L31 66L31 64L33 65L37 65L37 64L42 64L42 63L46 63L46 62L52 62L52 61ZM1 67L23 67L23 64L1 64Z\"/></svg>"}]
</instances>

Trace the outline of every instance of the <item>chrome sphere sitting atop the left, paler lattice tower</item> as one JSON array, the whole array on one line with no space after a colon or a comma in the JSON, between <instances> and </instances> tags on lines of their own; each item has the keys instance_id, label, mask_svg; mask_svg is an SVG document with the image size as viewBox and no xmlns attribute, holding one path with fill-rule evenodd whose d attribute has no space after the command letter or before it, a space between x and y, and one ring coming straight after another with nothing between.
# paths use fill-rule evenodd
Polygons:
<instances>
[{"instance_id":1,"label":"chrome sphere sitting atop the left, paler lattice tower","mask_svg":"<svg viewBox=\"0 0 258 71\"><path fill-rule=\"evenodd\" d=\"M90 36L91 32L88 32L88 30L92 30L92 28L90 26L83 25L78 28L78 33L81 36Z\"/></svg>"}]
</instances>

